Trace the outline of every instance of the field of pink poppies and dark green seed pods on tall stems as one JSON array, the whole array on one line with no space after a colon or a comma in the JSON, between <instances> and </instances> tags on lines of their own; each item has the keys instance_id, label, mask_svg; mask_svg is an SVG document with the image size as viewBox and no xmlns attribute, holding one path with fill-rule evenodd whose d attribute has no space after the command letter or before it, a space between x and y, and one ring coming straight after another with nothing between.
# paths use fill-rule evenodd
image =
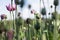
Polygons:
<instances>
[{"instance_id":1,"label":"field of pink poppies and dark green seed pods on tall stems","mask_svg":"<svg viewBox=\"0 0 60 40\"><path fill-rule=\"evenodd\" d=\"M60 40L60 14L56 10L59 5L58 1L53 2L54 12L48 13L51 18L46 16L47 11L44 0L42 0L44 8L40 10L40 13L31 9L32 6L29 4L28 9L31 10L30 13L34 15L34 18L23 19L17 6L19 5L22 11L24 0L14 0L15 4L11 0L11 4L6 5L6 9L10 13L10 20L7 20L6 14L0 15L0 40ZM50 8L52 10L53 6L51 5Z\"/></svg>"}]
</instances>

